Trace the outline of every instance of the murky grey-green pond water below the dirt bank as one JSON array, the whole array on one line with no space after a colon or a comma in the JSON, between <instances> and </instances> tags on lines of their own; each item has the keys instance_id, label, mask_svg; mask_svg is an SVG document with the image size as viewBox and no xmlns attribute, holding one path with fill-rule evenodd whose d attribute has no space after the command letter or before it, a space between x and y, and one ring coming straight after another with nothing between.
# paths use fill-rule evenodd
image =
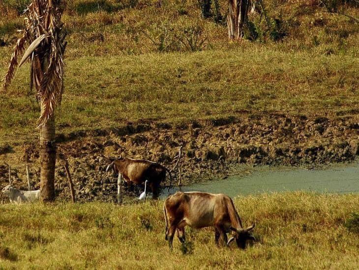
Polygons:
<instances>
[{"instance_id":1,"label":"murky grey-green pond water below the dirt bank","mask_svg":"<svg viewBox=\"0 0 359 270\"><path fill-rule=\"evenodd\" d=\"M163 190L161 198L179 189ZM306 190L320 193L359 193L359 163L334 165L326 169L254 168L250 175L230 176L181 187L182 191L225 193L230 197L262 192Z\"/></svg>"}]
</instances>

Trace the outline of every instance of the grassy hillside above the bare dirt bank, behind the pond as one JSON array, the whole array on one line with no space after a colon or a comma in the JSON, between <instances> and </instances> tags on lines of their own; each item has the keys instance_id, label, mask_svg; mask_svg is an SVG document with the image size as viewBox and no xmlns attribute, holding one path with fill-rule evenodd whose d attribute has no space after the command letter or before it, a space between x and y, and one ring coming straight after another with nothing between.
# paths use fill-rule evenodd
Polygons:
<instances>
[{"instance_id":1,"label":"grassy hillside above the bare dirt bank, behind the pond","mask_svg":"<svg viewBox=\"0 0 359 270\"><path fill-rule=\"evenodd\" d=\"M0 19L0 74L26 2L0 3L6 14ZM358 18L358 8L348 2L336 11ZM228 41L223 23L203 19L197 1L159 3L69 2L63 16L69 44L58 131L143 119L171 122L268 111L335 115L358 109L358 24L326 13L329 6L314 0L265 1L266 18L280 23L274 29L280 40L269 35L274 30L266 20L251 15L261 38L238 42ZM220 6L226 15L226 2ZM190 47L186 38L195 37ZM25 65L10 90L0 93L2 141L36 134L39 106L28 84Z\"/></svg>"}]
</instances>

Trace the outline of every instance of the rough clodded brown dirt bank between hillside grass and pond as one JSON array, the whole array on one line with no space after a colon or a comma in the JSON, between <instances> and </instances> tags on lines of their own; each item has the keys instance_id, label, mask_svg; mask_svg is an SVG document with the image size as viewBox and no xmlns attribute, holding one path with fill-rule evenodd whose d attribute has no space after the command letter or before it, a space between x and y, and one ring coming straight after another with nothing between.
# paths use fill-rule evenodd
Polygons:
<instances>
[{"instance_id":1,"label":"rough clodded brown dirt bank between hillside grass and pond","mask_svg":"<svg viewBox=\"0 0 359 270\"><path fill-rule=\"evenodd\" d=\"M96 133L99 136L72 138L58 144L59 152L67 157L70 164L80 201L115 200L116 177L105 173L109 157L122 155L148 159L171 169L180 145L183 145L184 153L183 184L223 177L231 173L231 165L238 163L318 166L351 161L359 155L358 115L335 119L268 115L176 126L164 123L129 124L125 129ZM66 140L66 137L59 136L59 139ZM39 187L35 144L14 147L13 153L2 154L0 159L12 162L13 184L26 189L25 165L19 162L24 153L32 162L31 178ZM7 166L1 162L0 179L1 187L5 186L8 181ZM167 180L162 186L168 184ZM65 171L60 162L56 169L56 187L60 197L69 197ZM138 195L139 189L128 190L128 194ZM6 201L4 197L0 200Z\"/></svg>"}]
</instances>

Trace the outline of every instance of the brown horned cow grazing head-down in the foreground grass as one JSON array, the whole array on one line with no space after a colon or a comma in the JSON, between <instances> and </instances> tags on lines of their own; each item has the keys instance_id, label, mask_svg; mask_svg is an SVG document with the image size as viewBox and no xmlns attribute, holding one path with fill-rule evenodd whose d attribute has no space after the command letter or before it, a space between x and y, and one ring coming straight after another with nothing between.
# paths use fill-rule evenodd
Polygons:
<instances>
[{"instance_id":1,"label":"brown horned cow grazing head-down in the foreground grass","mask_svg":"<svg viewBox=\"0 0 359 270\"><path fill-rule=\"evenodd\" d=\"M236 240L238 247L245 248L246 240L255 240L250 231L252 226L244 229L233 201L224 194L205 192L176 192L168 196L163 212L166 220L166 237L170 249L173 248L173 237L177 230L178 238L184 242L186 225L200 229L214 228L215 243L219 245L219 237L227 246ZM227 233L233 231L233 237L227 242Z\"/></svg>"}]
</instances>

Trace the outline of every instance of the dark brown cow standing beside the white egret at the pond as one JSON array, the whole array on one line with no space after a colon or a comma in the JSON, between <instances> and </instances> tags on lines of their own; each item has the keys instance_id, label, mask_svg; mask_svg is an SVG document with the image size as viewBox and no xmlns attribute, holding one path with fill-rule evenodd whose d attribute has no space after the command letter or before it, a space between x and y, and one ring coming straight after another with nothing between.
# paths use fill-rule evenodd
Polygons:
<instances>
[{"instance_id":1,"label":"dark brown cow standing beside the white egret at the pond","mask_svg":"<svg viewBox=\"0 0 359 270\"><path fill-rule=\"evenodd\" d=\"M141 185L148 180L149 187L152 189L153 198L158 197L159 185L166 179L166 171L168 171L170 175L170 186L172 184L170 170L157 162L120 157L107 166L106 172L111 167L116 173L122 174L127 184L134 183Z\"/></svg>"}]
</instances>

